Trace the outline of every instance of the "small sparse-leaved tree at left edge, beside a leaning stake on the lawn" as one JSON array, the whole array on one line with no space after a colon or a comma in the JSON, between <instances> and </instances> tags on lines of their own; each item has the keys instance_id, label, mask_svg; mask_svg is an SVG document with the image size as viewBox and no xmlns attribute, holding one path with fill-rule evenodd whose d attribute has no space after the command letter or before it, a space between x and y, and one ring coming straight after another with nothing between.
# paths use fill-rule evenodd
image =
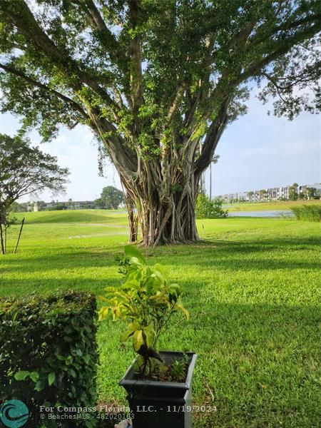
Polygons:
<instances>
[{"instance_id":1,"label":"small sparse-leaved tree at left edge, beside a leaning stake on the lawn","mask_svg":"<svg viewBox=\"0 0 321 428\"><path fill-rule=\"evenodd\" d=\"M22 196L50 189L63 190L68 170L54 156L31 147L28 139L0 134L0 239L5 253L6 229L12 205Z\"/></svg>"}]
</instances>

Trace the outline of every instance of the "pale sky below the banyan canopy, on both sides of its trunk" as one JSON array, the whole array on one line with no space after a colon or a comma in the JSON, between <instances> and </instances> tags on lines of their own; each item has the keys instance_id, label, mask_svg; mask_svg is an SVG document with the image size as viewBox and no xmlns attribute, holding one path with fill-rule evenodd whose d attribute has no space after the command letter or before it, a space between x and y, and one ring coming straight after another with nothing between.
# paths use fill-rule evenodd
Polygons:
<instances>
[{"instance_id":1,"label":"pale sky below the banyan canopy, on both sides of its trunk","mask_svg":"<svg viewBox=\"0 0 321 428\"><path fill-rule=\"evenodd\" d=\"M251 94L248 114L225 129L213 165L212 194L223 195L248 190L321 182L321 118L320 115L301 113L293 121L267 116L269 105L263 106ZM0 113L0 132L14 136L19 118ZM34 145L40 137L33 131L29 137ZM81 125L72 131L61 128L51 143L41 144L41 150L58 158L58 164L70 170L65 195L58 200L93 200L106 185L121 188L116 169L106 165L105 177L98 175L98 148L91 131ZM209 171L205 185L209 192ZM41 200L50 201L53 195L45 192ZM34 200L33 197L24 198Z\"/></svg>"}]
</instances>

